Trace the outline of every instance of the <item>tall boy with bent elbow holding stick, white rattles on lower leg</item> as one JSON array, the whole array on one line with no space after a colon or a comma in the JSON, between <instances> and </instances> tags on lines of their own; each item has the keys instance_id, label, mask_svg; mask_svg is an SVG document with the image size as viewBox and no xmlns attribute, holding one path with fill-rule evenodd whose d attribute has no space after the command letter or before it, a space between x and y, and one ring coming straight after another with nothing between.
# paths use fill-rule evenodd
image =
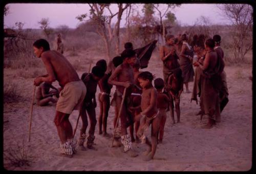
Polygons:
<instances>
[{"instance_id":1,"label":"tall boy with bent elbow holding stick, white rattles on lower leg","mask_svg":"<svg viewBox=\"0 0 256 174\"><path fill-rule=\"evenodd\" d=\"M132 150L131 137L127 134L127 127L133 123L131 114L127 110L129 106L129 98L131 96L133 84L134 84L134 73L132 66L136 62L136 53L131 49L124 50L121 53L123 58L122 64L118 66L113 74L109 78L109 83L116 85L116 93L114 94L114 101L117 108L120 108L121 115L121 142L124 146L124 153L128 153L131 157L136 157L137 154ZM126 88L126 94L124 94L124 103L121 106L122 96L124 89ZM127 122L129 120L129 122ZM116 125L115 125L116 126Z\"/></svg>"}]
</instances>

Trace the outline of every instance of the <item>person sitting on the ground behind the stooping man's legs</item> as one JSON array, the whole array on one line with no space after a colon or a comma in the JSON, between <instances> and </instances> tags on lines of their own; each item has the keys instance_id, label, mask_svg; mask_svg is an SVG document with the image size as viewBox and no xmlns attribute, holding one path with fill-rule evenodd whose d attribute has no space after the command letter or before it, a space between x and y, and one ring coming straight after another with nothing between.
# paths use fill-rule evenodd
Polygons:
<instances>
[{"instance_id":1,"label":"person sitting on the ground behind the stooping man's legs","mask_svg":"<svg viewBox=\"0 0 256 174\"><path fill-rule=\"evenodd\" d=\"M50 91L50 88L53 89ZM36 104L38 106L46 106L50 101L56 103L57 100L53 96L59 97L58 89L56 89L52 82L44 82L39 85L39 88L36 90Z\"/></svg>"}]
</instances>

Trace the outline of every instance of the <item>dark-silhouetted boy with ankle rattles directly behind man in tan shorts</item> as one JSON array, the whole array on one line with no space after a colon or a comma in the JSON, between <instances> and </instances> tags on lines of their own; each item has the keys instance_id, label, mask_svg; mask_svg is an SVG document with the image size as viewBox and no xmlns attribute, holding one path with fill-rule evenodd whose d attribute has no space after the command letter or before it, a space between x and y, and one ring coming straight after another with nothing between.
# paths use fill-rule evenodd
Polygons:
<instances>
[{"instance_id":1,"label":"dark-silhouetted boy with ankle rattles directly behind man in tan shorts","mask_svg":"<svg viewBox=\"0 0 256 174\"><path fill-rule=\"evenodd\" d=\"M97 84L98 81L104 76L104 71L101 67L95 66L92 69L92 73L83 73L81 76L81 80L86 85L88 91L86 94L86 97L83 100L82 107L80 108L79 115L82 119L82 128L80 130L80 138L78 141L79 148L81 150L85 150L84 148L84 142L86 139L86 129L88 126L88 120L87 120L87 114L90 119L90 129L89 129L89 136L87 138L87 148L89 149L95 149L93 147L93 141L95 139L94 132L95 132L95 126L97 123L96 120L96 113L95 113L95 107L97 106L96 99L95 99L95 93L97 90Z\"/></svg>"}]
</instances>

